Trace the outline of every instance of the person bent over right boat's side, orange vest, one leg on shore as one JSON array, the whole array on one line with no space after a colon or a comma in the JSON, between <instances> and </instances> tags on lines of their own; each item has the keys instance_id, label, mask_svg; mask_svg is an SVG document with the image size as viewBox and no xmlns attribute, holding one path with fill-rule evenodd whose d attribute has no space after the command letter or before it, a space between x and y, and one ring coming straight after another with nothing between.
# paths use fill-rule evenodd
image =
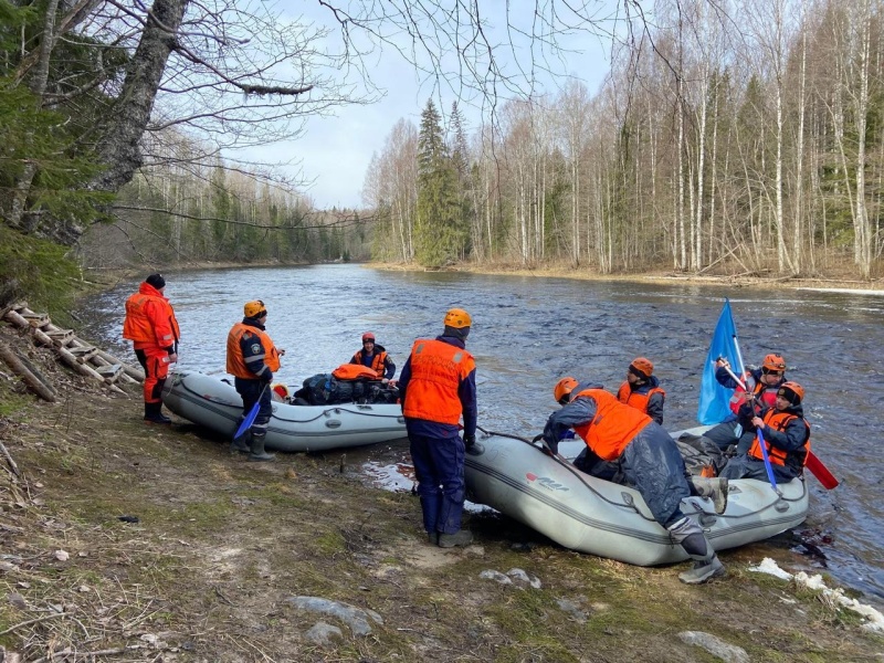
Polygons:
<instances>
[{"instance_id":1,"label":"person bent over right boat's side, orange vest, one leg on shore","mask_svg":"<svg viewBox=\"0 0 884 663\"><path fill-rule=\"evenodd\" d=\"M602 461L621 460L627 481L635 486L654 519L694 560L692 569L680 573L688 585L699 585L725 575L703 529L680 507L691 495L684 461L670 434L650 417L617 400L600 385L579 383L562 378L552 391L561 410L549 415L543 439L551 453L568 429L583 439Z\"/></svg>"}]
</instances>

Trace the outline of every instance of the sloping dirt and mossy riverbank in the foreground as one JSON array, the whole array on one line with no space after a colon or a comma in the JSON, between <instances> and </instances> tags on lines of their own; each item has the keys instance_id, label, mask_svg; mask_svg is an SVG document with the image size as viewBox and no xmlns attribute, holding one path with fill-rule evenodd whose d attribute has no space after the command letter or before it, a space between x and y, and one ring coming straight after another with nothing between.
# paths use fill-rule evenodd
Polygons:
<instances>
[{"instance_id":1,"label":"sloping dirt and mossy riverbank in the foreground","mask_svg":"<svg viewBox=\"0 0 884 663\"><path fill-rule=\"evenodd\" d=\"M749 572L761 559L753 547L725 552L728 576L703 587L681 585L681 567L575 554L490 515L467 518L476 545L430 547L417 498L366 487L340 453L248 463L187 422L144 424L137 393L96 391L9 328L0 341L63 394L36 402L0 376L6 661L717 660L684 631L751 661L884 652L855 613ZM788 547L776 557L808 566ZM539 588L480 577L514 568ZM382 623L356 635L293 597L341 601ZM317 644L308 631L319 621L341 635Z\"/></svg>"}]
</instances>

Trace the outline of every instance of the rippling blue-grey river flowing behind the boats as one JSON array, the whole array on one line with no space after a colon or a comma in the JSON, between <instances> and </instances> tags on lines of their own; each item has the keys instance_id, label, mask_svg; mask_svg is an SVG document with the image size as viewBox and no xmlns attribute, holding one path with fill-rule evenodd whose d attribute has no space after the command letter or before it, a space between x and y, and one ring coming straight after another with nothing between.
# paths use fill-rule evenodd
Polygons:
<instances>
[{"instance_id":1,"label":"rippling blue-grey river flowing behind the boats","mask_svg":"<svg viewBox=\"0 0 884 663\"><path fill-rule=\"evenodd\" d=\"M884 347L884 296L380 272L346 264L209 270L166 278L181 325L182 368L222 373L228 330L241 319L246 301L261 298L269 334L287 350L276 379L295 388L348 361L366 330L391 354L398 376L415 338L439 334L448 308L466 308L473 316L467 347L477 365L480 425L527 438L543 430L555 409L551 391L560 377L572 375L615 391L630 360L640 355L654 361L666 390L664 425L671 431L696 425L701 372L728 297L745 361L759 362L768 351L786 357L788 377L807 392L813 450L841 481L827 492L809 480L808 526L824 533L829 572L876 603L884 601L878 503L884 369L877 357ZM78 311L88 320L87 335L131 361L122 338L123 304L136 288L137 283L122 284ZM385 466L372 464L372 449L361 456L348 450L348 460L364 459L366 472L385 487L401 488L407 443L393 449L397 460Z\"/></svg>"}]
</instances>

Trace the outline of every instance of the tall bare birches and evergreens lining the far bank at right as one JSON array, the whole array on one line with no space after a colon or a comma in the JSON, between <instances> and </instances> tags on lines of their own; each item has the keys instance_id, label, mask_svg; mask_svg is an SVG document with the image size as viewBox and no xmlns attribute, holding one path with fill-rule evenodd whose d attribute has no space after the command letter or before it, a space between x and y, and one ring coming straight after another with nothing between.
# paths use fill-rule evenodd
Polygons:
<instances>
[{"instance_id":1,"label":"tall bare birches and evergreens lining the far bank at right","mask_svg":"<svg viewBox=\"0 0 884 663\"><path fill-rule=\"evenodd\" d=\"M880 276L882 7L662 0L597 92L509 99L472 135L431 99L367 176L375 256Z\"/></svg>"}]
</instances>

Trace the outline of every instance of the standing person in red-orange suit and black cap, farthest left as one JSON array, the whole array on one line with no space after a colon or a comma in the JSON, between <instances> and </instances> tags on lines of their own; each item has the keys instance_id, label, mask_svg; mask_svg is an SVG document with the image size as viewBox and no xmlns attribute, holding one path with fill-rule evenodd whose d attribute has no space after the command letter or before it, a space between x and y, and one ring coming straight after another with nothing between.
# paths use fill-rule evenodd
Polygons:
<instances>
[{"instance_id":1,"label":"standing person in red-orange suit and black cap, farthest left","mask_svg":"<svg viewBox=\"0 0 884 663\"><path fill-rule=\"evenodd\" d=\"M161 411L162 387L169 365L178 361L181 332L165 291L162 274L150 274L138 292L126 299L123 338L133 341L135 356L145 370L145 421L168 424L171 419Z\"/></svg>"}]
</instances>

